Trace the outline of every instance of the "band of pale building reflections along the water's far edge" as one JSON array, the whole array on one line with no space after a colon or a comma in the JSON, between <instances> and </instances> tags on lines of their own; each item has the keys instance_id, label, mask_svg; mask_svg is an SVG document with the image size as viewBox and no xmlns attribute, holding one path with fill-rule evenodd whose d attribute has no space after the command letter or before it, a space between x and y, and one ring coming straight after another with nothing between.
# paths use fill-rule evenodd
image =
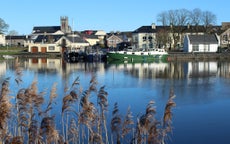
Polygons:
<instances>
[{"instance_id":1,"label":"band of pale building reflections along the water's far edge","mask_svg":"<svg viewBox=\"0 0 230 144\"><path fill-rule=\"evenodd\" d=\"M230 78L230 62L169 62L169 63L66 63L62 59L33 58L23 60L25 69L38 73L58 73L62 77L76 71L104 74L108 70L123 71L140 79L189 79L203 77ZM6 62L0 63L0 75L6 73ZM11 67L14 69L14 67Z\"/></svg>"}]
</instances>

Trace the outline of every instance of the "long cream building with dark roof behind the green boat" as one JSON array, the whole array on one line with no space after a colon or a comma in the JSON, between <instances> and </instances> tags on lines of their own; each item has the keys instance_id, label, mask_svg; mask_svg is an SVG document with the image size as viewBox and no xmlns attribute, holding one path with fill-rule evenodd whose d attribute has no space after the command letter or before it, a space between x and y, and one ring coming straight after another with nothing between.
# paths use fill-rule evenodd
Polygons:
<instances>
[{"instance_id":1,"label":"long cream building with dark roof behind the green boat","mask_svg":"<svg viewBox=\"0 0 230 144\"><path fill-rule=\"evenodd\" d=\"M202 25L187 26L141 26L132 33L135 48L169 48L183 47L185 35L204 35L218 33L221 26L204 27Z\"/></svg>"}]
</instances>

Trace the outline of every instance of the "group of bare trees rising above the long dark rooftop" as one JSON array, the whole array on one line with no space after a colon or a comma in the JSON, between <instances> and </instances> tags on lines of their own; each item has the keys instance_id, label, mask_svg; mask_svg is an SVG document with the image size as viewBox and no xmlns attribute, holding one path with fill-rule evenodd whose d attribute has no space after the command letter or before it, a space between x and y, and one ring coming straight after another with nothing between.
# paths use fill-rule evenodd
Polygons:
<instances>
[{"instance_id":1,"label":"group of bare trees rising above the long dark rooftop","mask_svg":"<svg viewBox=\"0 0 230 144\"><path fill-rule=\"evenodd\" d=\"M156 43L159 47L179 48L185 26L186 29L194 26L197 33L200 31L213 33L212 26L216 24L216 19L216 15L212 12L202 11L199 8L163 11L157 15L157 22L164 28L157 33Z\"/></svg>"}]
</instances>

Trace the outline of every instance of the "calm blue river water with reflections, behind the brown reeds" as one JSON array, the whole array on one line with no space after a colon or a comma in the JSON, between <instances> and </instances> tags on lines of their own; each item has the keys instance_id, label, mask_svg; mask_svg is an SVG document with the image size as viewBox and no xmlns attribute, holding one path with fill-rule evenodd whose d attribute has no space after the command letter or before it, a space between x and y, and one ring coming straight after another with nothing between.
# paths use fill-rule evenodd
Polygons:
<instances>
[{"instance_id":1,"label":"calm blue river water with reflections, behind the brown reeds","mask_svg":"<svg viewBox=\"0 0 230 144\"><path fill-rule=\"evenodd\" d=\"M64 87L79 76L83 90L96 74L98 87L105 85L110 113L118 103L125 114L130 106L134 118L145 113L154 100L156 117L162 119L169 91L174 89L172 144L230 143L230 62L174 63L64 63L60 59L19 60L22 83L17 85L13 61L0 61L0 82L10 79L11 95L36 79L39 91L57 83L55 111L61 113ZM48 97L48 96L47 96ZM95 97L91 97L95 101Z\"/></svg>"}]
</instances>

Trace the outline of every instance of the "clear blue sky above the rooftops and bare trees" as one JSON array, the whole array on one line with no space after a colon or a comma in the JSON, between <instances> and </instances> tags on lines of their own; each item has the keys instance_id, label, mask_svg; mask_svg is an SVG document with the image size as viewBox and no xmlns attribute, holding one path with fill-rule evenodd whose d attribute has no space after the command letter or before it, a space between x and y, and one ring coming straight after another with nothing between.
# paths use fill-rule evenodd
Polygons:
<instances>
[{"instance_id":1,"label":"clear blue sky above the rooftops and bare trees","mask_svg":"<svg viewBox=\"0 0 230 144\"><path fill-rule=\"evenodd\" d=\"M134 31L158 24L163 11L182 8L211 11L220 25L230 22L229 5L229 0L4 0L0 18L19 34L30 34L34 26L59 26L61 16L68 16L77 31Z\"/></svg>"}]
</instances>

